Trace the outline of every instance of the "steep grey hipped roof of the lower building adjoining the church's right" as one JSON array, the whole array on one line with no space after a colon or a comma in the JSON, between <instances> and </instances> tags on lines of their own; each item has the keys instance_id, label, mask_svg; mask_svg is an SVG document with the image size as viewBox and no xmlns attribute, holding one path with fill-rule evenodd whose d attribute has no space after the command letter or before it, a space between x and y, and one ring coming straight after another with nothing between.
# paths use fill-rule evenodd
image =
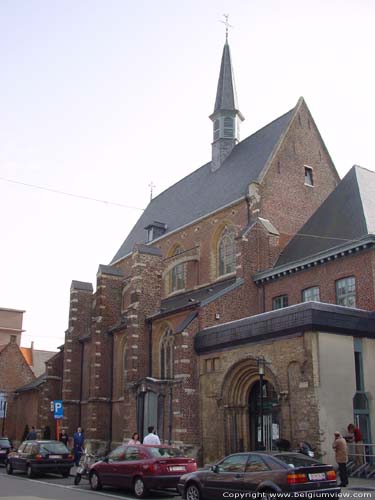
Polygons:
<instances>
[{"instance_id":1,"label":"steep grey hipped roof of the lower building adjoining the church's right","mask_svg":"<svg viewBox=\"0 0 375 500\"><path fill-rule=\"evenodd\" d=\"M280 255L275 267L375 233L375 173L354 165Z\"/></svg>"}]
</instances>

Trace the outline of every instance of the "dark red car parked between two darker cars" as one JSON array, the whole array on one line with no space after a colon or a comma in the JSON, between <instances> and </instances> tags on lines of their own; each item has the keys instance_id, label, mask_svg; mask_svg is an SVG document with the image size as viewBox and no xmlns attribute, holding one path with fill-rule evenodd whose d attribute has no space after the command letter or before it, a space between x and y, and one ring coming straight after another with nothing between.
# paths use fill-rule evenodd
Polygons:
<instances>
[{"instance_id":1,"label":"dark red car parked between two darker cars","mask_svg":"<svg viewBox=\"0 0 375 500\"><path fill-rule=\"evenodd\" d=\"M119 446L90 469L93 490L103 486L133 490L143 498L150 489L177 488L182 474L197 470L193 458L170 446Z\"/></svg>"}]
</instances>

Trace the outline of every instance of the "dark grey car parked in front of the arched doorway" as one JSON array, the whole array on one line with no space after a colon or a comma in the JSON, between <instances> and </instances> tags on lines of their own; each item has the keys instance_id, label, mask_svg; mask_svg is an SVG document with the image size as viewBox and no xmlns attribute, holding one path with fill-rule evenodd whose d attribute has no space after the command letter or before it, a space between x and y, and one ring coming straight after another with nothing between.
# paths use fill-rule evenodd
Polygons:
<instances>
[{"instance_id":1,"label":"dark grey car parked in front of the arched doorway","mask_svg":"<svg viewBox=\"0 0 375 500\"><path fill-rule=\"evenodd\" d=\"M178 490L187 500L241 498L236 495L245 493L249 497L262 493L262 498L275 498L276 493L314 498L325 493L331 498L341 491L331 465L288 452L229 455L209 469L184 474Z\"/></svg>"}]
</instances>

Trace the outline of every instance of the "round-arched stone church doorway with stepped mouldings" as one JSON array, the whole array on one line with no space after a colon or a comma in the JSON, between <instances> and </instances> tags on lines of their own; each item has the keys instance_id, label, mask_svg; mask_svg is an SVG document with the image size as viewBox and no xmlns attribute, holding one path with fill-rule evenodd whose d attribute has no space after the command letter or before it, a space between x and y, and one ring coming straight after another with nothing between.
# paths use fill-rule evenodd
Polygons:
<instances>
[{"instance_id":1,"label":"round-arched stone church doorway with stepped mouldings","mask_svg":"<svg viewBox=\"0 0 375 500\"><path fill-rule=\"evenodd\" d=\"M270 365L265 368L262 387L261 403L260 377L255 357L239 361L225 375L222 404L226 454L272 449L273 441L279 438L279 391Z\"/></svg>"}]
</instances>

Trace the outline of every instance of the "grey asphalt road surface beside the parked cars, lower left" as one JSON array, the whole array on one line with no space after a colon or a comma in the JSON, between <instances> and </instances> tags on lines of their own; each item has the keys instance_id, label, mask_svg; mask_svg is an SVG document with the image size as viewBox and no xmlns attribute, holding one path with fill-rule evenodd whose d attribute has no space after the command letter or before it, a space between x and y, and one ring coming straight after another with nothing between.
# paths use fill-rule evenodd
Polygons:
<instances>
[{"instance_id":1,"label":"grey asphalt road surface beside the parked cars, lower left","mask_svg":"<svg viewBox=\"0 0 375 500\"><path fill-rule=\"evenodd\" d=\"M120 499L134 500L135 496L124 490L91 491L88 481L82 480L79 486L74 486L73 477L62 479L49 474L48 476L28 479L24 474L14 473L9 476L4 467L0 467L0 498L3 500L104 500ZM152 493L149 500L181 500L173 493Z\"/></svg>"}]
</instances>

